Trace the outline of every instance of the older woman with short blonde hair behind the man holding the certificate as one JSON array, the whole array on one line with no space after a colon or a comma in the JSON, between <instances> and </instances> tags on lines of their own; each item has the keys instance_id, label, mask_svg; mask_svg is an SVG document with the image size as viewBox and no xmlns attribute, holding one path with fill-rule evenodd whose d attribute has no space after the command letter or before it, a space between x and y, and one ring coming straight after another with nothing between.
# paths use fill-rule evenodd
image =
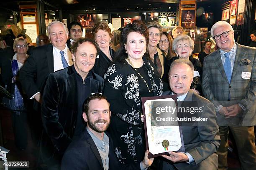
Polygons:
<instances>
[{"instance_id":1,"label":"older woman with short blonde hair behind the man holding the certificate","mask_svg":"<svg viewBox=\"0 0 256 170\"><path fill-rule=\"evenodd\" d=\"M201 63L191 56L192 51L194 50L194 41L188 35L179 35L177 36L172 44L172 50L174 50L177 54L176 57L172 57L170 60L170 65L174 60L177 59L187 59L190 60L194 67L194 78L193 82L191 83L190 89L197 92L199 95L202 95L202 65Z\"/></svg>"}]
</instances>

